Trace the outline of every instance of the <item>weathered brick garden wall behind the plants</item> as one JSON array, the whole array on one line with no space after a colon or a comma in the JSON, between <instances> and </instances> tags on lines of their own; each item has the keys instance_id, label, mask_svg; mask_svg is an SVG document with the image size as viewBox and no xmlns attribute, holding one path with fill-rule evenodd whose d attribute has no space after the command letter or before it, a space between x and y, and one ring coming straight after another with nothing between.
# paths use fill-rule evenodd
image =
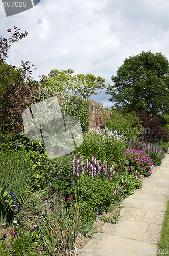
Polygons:
<instances>
[{"instance_id":1,"label":"weathered brick garden wall behind the plants","mask_svg":"<svg viewBox=\"0 0 169 256\"><path fill-rule=\"evenodd\" d=\"M25 106L27 105L27 103L30 102L35 102L35 97L36 97L36 88L32 88L33 90L31 90L31 95L29 97L29 102L27 102L27 97L24 97L23 95L21 97L23 97L23 101L25 101ZM61 104L62 103L62 98L64 97L63 94L61 93L57 93L57 98L58 98L58 102ZM26 109L26 107L24 108ZM18 113L16 119L15 119L15 131L23 131L23 124L22 124L22 115L21 113L23 112L23 110ZM97 127L101 127L102 123L101 123L101 116L105 115L108 118L111 118L110 116L110 111L105 111L103 108L103 104L99 103L99 102L95 102L90 100L89 101L89 115L90 115L90 120L89 120L89 132L91 132L93 129L96 129ZM15 115L16 116L16 115Z\"/></svg>"}]
</instances>

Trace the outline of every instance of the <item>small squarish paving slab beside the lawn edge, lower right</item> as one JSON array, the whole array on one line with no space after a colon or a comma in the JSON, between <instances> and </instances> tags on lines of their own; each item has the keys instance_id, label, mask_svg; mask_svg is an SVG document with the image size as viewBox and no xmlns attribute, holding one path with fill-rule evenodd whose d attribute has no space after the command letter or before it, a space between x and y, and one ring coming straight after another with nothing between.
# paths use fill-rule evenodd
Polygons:
<instances>
[{"instance_id":1,"label":"small squarish paving slab beside the lawn edge, lower right","mask_svg":"<svg viewBox=\"0 0 169 256\"><path fill-rule=\"evenodd\" d=\"M142 221L162 225L165 218L165 212L147 210Z\"/></svg>"}]
</instances>

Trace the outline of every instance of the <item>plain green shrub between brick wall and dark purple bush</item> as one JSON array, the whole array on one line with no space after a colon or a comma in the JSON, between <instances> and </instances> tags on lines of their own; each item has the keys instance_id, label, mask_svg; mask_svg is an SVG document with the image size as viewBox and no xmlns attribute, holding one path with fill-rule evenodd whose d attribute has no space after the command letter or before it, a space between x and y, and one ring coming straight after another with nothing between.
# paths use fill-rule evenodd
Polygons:
<instances>
[{"instance_id":1,"label":"plain green shrub between brick wall and dark purple bush","mask_svg":"<svg viewBox=\"0 0 169 256\"><path fill-rule=\"evenodd\" d=\"M111 108L111 119L103 117L103 123L108 130L116 130L118 134L123 134L128 140L137 138L142 133L141 130L143 130L139 118L135 113L126 113L123 115L113 108Z\"/></svg>"}]
</instances>

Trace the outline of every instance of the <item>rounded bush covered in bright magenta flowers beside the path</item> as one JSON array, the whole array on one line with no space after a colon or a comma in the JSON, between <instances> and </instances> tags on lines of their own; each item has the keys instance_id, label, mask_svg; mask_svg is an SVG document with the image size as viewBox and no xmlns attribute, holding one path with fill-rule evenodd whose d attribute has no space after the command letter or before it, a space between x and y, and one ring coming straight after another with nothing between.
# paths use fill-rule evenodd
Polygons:
<instances>
[{"instance_id":1,"label":"rounded bush covered in bright magenta flowers beside the path","mask_svg":"<svg viewBox=\"0 0 169 256\"><path fill-rule=\"evenodd\" d=\"M153 161L145 151L128 148L124 151L124 155L128 161L128 166L125 167L127 172L136 177L149 176L151 174Z\"/></svg>"}]
</instances>

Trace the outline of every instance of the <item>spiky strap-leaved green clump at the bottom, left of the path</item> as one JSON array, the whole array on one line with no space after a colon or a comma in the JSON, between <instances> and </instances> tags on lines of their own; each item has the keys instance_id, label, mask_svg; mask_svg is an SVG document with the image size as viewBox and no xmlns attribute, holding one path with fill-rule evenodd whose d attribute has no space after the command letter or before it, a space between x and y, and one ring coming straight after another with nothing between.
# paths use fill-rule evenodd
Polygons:
<instances>
[{"instance_id":1,"label":"spiky strap-leaved green clump at the bottom, left of the path","mask_svg":"<svg viewBox=\"0 0 169 256\"><path fill-rule=\"evenodd\" d=\"M54 196L53 214L41 216L38 229L42 233L39 242L43 245L44 255L65 253L67 249L73 250L81 228L79 203L72 202L71 207L66 208L62 194L55 193Z\"/></svg>"}]
</instances>

